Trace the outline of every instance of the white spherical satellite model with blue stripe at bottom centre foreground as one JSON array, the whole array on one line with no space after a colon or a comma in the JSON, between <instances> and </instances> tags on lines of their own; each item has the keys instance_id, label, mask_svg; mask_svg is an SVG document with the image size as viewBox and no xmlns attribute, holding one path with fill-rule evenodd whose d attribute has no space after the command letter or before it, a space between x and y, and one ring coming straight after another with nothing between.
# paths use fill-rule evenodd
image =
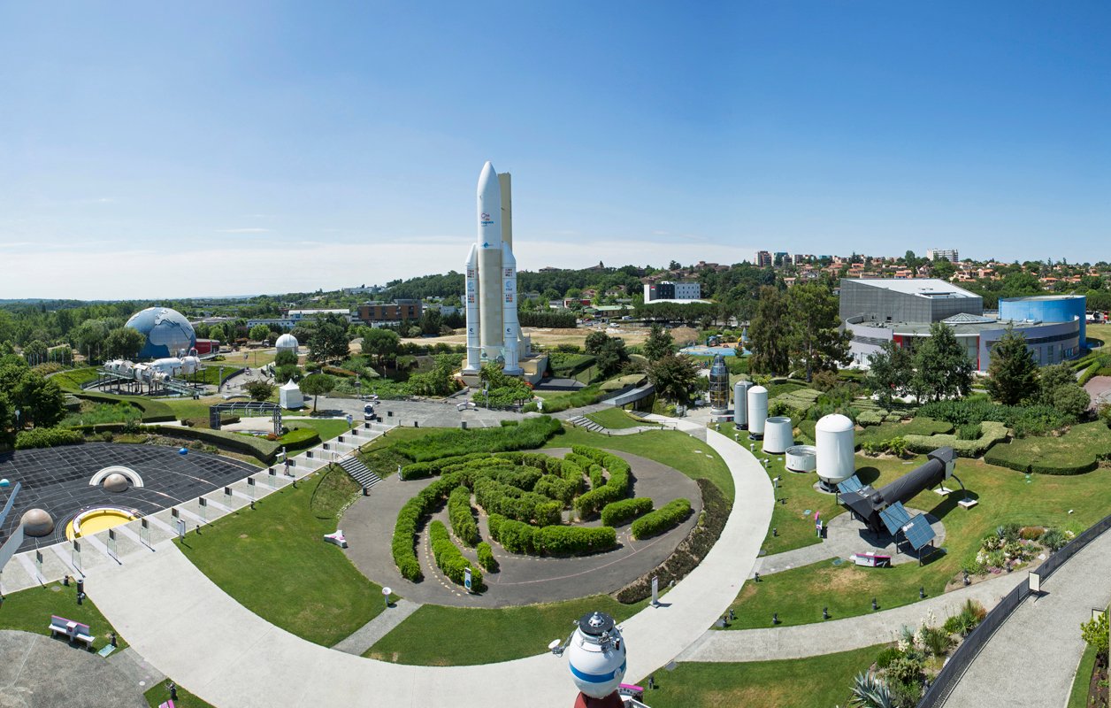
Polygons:
<instances>
[{"instance_id":1,"label":"white spherical satellite model with blue stripe at bottom centre foreground","mask_svg":"<svg viewBox=\"0 0 1111 708\"><path fill-rule=\"evenodd\" d=\"M567 655L571 679L590 698L610 696L624 678L624 640L613 618L604 612L591 612L579 619Z\"/></svg>"}]
</instances>

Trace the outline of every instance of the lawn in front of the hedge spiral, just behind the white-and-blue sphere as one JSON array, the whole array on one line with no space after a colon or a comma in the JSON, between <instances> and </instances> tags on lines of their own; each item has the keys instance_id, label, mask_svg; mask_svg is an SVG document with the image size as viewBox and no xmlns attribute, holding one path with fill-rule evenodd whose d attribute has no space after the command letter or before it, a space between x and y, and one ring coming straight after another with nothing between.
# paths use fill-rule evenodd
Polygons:
<instances>
[{"instance_id":1,"label":"lawn in front of the hedge spiral, just behind the white-and-blue sphere","mask_svg":"<svg viewBox=\"0 0 1111 708\"><path fill-rule=\"evenodd\" d=\"M622 605L608 595L595 595L502 609L424 605L363 656L421 666L509 661L544 654L548 642L567 639L571 622L587 612L607 612L620 622L647 604Z\"/></svg>"}]
</instances>

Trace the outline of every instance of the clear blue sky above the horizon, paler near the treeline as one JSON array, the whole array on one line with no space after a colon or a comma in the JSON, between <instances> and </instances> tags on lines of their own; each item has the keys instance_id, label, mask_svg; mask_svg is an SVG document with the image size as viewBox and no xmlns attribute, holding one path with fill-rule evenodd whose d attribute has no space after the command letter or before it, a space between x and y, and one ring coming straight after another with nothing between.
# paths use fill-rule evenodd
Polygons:
<instances>
[{"instance_id":1,"label":"clear blue sky above the horizon, paler near the treeline","mask_svg":"<svg viewBox=\"0 0 1111 708\"><path fill-rule=\"evenodd\" d=\"M0 297L758 248L1111 260L1111 6L4 3Z\"/></svg>"}]
</instances>

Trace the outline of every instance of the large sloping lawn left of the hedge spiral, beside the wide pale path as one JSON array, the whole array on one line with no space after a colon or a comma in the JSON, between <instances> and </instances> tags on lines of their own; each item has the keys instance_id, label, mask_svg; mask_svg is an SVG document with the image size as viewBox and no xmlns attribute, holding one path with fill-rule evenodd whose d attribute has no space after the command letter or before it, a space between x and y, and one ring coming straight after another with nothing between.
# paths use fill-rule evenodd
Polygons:
<instances>
[{"instance_id":1,"label":"large sloping lawn left of the hedge spiral, beside the wide pale path","mask_svg":"<svg viewBox=\"0 0 1111 708\"><path fill-rule=\"evenodd\" d=\"M182 552L224 592L263 619L330 647L382 610L381 587L368 580L323 534L359 487L343 471L318 472L229 515ZM318 491L319 493L314 493ZM388 542L383 539L382 542Z\"/></svg>"}]
</instances>

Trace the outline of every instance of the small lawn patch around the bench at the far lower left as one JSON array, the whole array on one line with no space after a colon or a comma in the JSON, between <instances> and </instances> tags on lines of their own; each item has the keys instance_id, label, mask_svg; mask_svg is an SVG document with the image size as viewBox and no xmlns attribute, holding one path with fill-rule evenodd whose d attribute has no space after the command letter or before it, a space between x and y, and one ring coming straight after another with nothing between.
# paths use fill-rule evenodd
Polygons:
<instances>
[{"instance_id":1,"label":"small lawn patch around the bench at the far lower left","mask_svg":"<svg viewBox=\"0 0 1111 708\"><path fill-rule=\"evenodd\" d=\"M77 581L69 587L51 582L46 587L28 588L4 596L0 602L0 629L20 629L36 635L50 636L50 616L58 615L76 622L88 625L96 637L93 648L108 644L108 632L113 631L104 616L92 600L86 598L77 604ZM117 637L120 649L128 646L122 637Z\"/></svg>"}]
</instances>

